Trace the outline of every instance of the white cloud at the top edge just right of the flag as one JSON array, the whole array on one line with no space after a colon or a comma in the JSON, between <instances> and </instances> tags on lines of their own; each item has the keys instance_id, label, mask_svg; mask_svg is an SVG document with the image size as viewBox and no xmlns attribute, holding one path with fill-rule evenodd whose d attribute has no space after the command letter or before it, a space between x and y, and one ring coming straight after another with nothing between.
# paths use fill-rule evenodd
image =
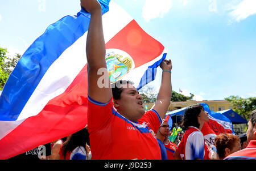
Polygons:
<instances>
[{"instance_id":1,"label":"white cloud at the top edge just right of the flag","mask_svg":"<svg viewBox=\"0 0 256 171\"><path fill-rule=\"evenodd\" d=\"M172 7L171 0L146 0L142 8L142 16L146 22L154 18L163 18Z\"/></svg>"}]
</instances>

